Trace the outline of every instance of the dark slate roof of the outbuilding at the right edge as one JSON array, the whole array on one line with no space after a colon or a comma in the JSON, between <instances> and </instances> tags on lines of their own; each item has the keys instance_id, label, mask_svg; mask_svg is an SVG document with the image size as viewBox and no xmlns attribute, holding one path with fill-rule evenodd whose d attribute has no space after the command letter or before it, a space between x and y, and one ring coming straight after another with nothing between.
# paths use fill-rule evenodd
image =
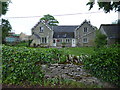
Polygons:
<instances>
[{"instance_id":1,"label":"dark slate roof of the outbuilding at the right edge","mask_svg":"<svg viewBox=\"0 0 120 90\"><path fill-rule=\"evenodd\" d=\"M120 38L120 24L101 24L108 38Z\"/></svg>"}]
</instances>

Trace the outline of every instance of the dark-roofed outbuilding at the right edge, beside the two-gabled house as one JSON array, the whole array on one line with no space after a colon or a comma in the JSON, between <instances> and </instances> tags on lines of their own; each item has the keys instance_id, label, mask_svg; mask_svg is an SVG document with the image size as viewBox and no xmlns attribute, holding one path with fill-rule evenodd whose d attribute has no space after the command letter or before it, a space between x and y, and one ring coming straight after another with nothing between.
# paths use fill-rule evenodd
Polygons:
<instances>
[{"instance_id":1,"label":"dark-roofed outbuilding at the right edge, beside the two-gabled house","mask_svg":"<svg viewBox=\"0 0 120 90\"><path fill-rule=\"evenodd\" d=\"M108 45L120 43L120 24L101 24L99 30L107 36Z\"/></svg>"}]
</instances>

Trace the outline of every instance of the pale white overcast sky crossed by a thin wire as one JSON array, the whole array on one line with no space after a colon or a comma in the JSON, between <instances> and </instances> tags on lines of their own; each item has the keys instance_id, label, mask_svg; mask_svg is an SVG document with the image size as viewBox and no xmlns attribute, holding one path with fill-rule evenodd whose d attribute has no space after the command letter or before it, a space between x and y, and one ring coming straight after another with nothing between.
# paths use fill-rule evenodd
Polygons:
<instances>
[{"instance_id":1,"label":"pale white overcast sky crossed by a thin wire","mask_svg":"<svg viewBox=\"0 0 120 90\"><path fill-rule=\"evenodd\" d=\"M85 19L100 27L118 19L118 13L104 13L97 4L89 11L89 0L11 0L9 11L3 18L10 21L16 34L31 35L31 28L46 14L53 15L59 25L80 25Z\"/></svg>"}]
</instances>

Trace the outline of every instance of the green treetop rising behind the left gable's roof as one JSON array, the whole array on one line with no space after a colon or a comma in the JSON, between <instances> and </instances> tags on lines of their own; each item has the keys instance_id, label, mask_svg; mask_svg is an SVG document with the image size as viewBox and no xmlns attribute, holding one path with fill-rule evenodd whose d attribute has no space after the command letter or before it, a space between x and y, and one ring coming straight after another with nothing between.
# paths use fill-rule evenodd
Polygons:
<instances>
[{"instance_id":1,"label":"green treetop rising behind the left gable's roof","mask_svg":"<svg viewBox=\"0 0 120 90\"><path fill-rule=\"evenodd\" d=\"M59 22L50 14L44 15L40 20L44 21L46 24L50 26L57 26Z\"/></svg>"}]
</instances>

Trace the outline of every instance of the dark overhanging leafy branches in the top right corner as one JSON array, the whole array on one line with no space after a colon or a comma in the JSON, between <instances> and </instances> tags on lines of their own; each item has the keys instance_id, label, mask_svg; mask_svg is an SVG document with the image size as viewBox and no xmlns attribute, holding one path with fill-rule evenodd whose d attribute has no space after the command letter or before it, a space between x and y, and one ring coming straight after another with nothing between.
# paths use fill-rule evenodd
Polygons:
<instances>
[{"instance_id":1,"label":"dark overhanging leafy branches in the top right corner","mask_svg":"<svg viewBox=\"0 0 120 90\"><path fill-rule=\"evenodd\" d=\"M99 9L103 9L105 13L108 13L112 10L120 12L120 1L115 2L114 0L107 0L107 2L100 2L101 0L98 0ZM94 6L95 0L90 0L86 5L90 5L89 10L91 10Z\"/></svg>"}]
</instances>

